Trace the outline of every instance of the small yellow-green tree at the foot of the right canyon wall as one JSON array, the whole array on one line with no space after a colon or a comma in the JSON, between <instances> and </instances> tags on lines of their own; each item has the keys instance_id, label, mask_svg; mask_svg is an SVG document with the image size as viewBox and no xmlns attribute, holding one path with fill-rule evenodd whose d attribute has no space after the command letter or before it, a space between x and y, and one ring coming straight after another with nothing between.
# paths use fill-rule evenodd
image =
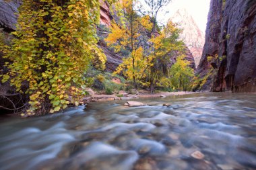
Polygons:
<instances>
[{"instance_id":1,"label":"small yellow-green tree at the foot of the right canyon wall","mask_svg":"<svg viewBox=\"0 0 256 170\"><path fill-rule=\"evenodd\" d=\"M184 59L185 56L179 56L177 61L170 68L170 77L172 86L180 91L187 91L191 89L191 79L194 76L194 71L189 65L188 60Z\"/></svg>"}]
</instances>

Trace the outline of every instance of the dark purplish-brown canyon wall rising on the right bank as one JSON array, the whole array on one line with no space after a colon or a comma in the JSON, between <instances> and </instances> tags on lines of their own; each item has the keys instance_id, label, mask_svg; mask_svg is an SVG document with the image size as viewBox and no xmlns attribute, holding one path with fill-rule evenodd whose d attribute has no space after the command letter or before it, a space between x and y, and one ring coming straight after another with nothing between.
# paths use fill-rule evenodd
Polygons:
<instances>
[{"instance_id":1,"label":"dark purplish-brown canyon wall rising on the right bank","mask_svg":"<svg viewBox=\"0 0 256 170\"><path fill-rule=\"evenodd\" d=\"M209 60L209 56L215 59ZM255 0L211 1L205 46L197 73L203 76L211 67L216 75L208 79L204 89L256 91Z\"/></svg>"}]
</instances>

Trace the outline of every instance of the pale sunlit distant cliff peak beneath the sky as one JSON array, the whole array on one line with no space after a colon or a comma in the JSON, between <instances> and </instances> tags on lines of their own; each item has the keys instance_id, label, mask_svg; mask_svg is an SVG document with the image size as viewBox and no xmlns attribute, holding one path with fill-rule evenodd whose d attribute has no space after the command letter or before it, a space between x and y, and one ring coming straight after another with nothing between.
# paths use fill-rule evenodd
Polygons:
<instances>
[{"instance_id":1,"label":"pale sunlit distant cliff peak beneath the sky","mask_svg":"<svg viewBox=\"0 0 256 170\"><path fill-rule=\"evenodd\" d=\"M183 39L193 54L193 57L195 58L195 65L197 67L203 51L205 35L198 28L193 17L189 15L186 9L177 10L170 19L172 22L179 24L179 28L183 29L181 39Z\"/></svg>"}]
</instances>

